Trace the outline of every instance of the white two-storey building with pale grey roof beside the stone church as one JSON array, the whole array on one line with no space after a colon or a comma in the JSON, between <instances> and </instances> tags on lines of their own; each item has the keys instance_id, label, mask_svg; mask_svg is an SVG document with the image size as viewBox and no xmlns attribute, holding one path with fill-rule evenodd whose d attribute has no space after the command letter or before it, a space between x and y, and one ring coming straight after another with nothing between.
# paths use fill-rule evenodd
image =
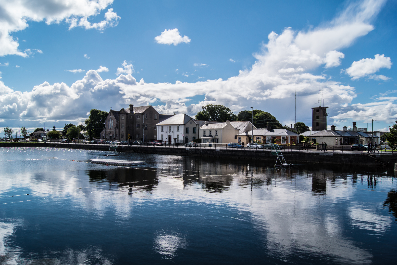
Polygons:
<instances>
[{"instance_id":1,"label":"white two-storey building with pale grey roof beside the stone church","mask_svg":"<svg viewBox=\"0 0 397 265\"><path fill-rule=\"evenodd\" d=\"M186 114L175 114L159 122L157 139L167 143L188 143L198 138L199 122Z\"/></svg>"}]
</instances>

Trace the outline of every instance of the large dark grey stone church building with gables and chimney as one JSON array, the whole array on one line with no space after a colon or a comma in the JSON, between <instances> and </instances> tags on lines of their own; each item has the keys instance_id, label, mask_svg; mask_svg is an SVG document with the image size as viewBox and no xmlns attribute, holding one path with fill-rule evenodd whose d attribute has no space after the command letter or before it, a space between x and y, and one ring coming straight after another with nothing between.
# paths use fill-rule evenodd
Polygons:
<instances>
[{"instance_id":1,"label":"large dark grey stone church building with gables and chimney","mask_svg":"<svg viewBox=\"0 0 397 265\"><path fill-rule=\"evenodd\" d=\"M156 140L156 124L171 116L173 115L159 114L153 106L134 107L131 104L129 108L119 111L110 108L100 139L145 142Z\"/></svg>"}]
</instances>

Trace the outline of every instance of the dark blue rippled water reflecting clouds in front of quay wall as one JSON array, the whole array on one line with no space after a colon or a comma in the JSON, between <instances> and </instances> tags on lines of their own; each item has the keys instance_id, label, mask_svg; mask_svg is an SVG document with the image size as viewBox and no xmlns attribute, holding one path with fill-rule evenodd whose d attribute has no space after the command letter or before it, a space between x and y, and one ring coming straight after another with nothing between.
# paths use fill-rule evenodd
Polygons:
<instances>
[{"instance_id":1,"label":"dark blue rippled water reflecting clouds in front of quay wall","mask_svg":"<svg viewBox=\"0 0 397 265\"><path fill-rule=\"evenodd\" d=\"M394 174L105 153L0 149L0 264L395 262Z\"/></svg>"}]
</instances>

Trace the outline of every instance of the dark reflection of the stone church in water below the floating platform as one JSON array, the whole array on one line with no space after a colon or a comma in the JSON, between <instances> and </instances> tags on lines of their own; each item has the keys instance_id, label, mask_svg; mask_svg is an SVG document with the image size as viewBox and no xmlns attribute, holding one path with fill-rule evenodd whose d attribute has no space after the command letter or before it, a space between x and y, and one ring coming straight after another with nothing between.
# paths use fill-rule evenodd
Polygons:
<instances>
[{"instance_id":1,"label":"dark reflection of the stone church in water below the floating platform","mask_svg":"<svg viewBox=\"0 0 397 265\"><path fill-rule=\"evenodd\" d=\"M148 190L158 184L156 169L112 167L109 170L88 170L87 175L91 183L116 182L120 186L142 186Z\"/></svg>"}]
</instances>

